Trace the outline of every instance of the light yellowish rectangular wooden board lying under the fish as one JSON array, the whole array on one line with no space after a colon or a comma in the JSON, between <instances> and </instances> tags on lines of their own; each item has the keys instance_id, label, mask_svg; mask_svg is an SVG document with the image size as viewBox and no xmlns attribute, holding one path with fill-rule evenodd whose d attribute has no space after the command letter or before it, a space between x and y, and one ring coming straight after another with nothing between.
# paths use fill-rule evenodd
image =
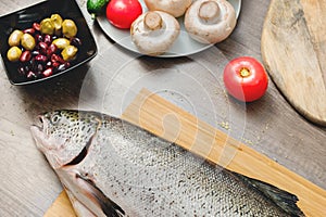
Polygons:
<instances>
[{"instance_id":1,"label":"light yellowish rectangular wooden board lying under the fish","mask_svg":"<svg viewBox=\"0 0 326 217\"><path fill-rule=\"evenodd\" d=\"M122 117L212 163L296 194L306 216L326 216L325 190L148 90L135 98ZM61 194L46 216L72 214L65 194Z\"/></svg>"}]
</instances>

